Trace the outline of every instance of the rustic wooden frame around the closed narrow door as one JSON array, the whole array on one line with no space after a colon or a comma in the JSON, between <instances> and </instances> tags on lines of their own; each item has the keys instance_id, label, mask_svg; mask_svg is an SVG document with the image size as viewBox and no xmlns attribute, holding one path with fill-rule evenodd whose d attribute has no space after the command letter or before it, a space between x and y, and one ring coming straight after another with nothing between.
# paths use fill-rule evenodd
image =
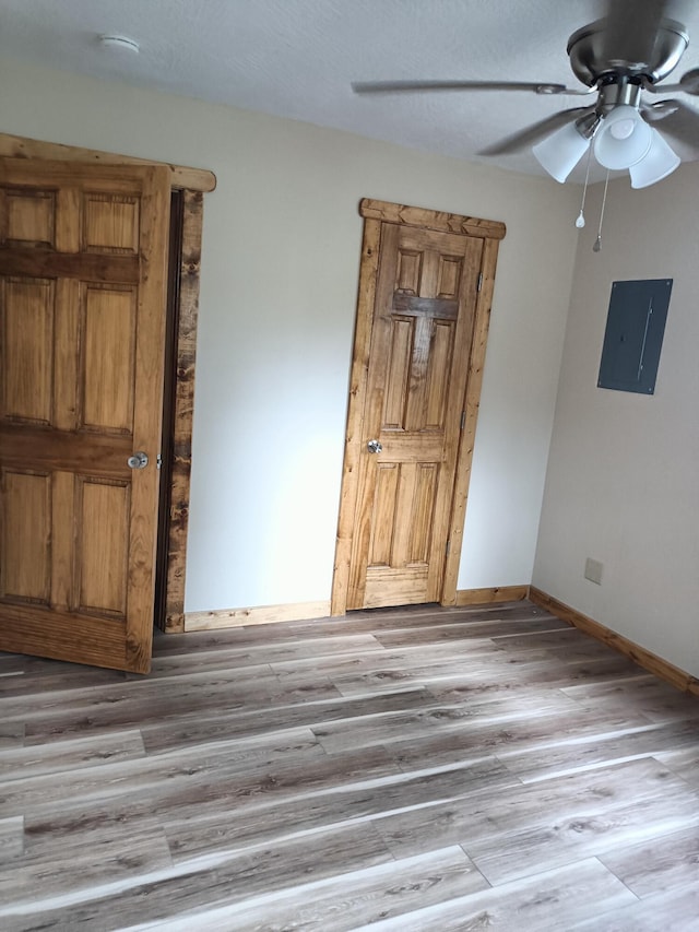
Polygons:
<instances>
[{"instance_id":1,"label":"rustic wooden frame around the closed narrow door","mask_svg":"<svg viewBox=\"0 0 699 932\"><path fill-rule=\"evenodd\" d=\"M465 418L459 438L457 475L449 519L450 546L448 553L445 555L445 574L440 599L442 605L454 605L457 602L457 577L461 561L473 446L495 285L495 270L499 243L506 234L505 224L499 221L479 220L477 217L433 211L425 208L395 204L389 201L377 201L370 198L364 198L359 202L359 214L364 217L364 237L359 266L359 290L350 375L345 455L330 603L330 614L335 616L344 615L347 611L347 587L359 491L359 457L363 443L362 427L367 398L371 322L379 270L381 224L395 223L439 233L457 233L483 240L482 278L476 300L473 342L469 357L469 374L462 409L465 412Z\"/></svg>"}]
</instances>

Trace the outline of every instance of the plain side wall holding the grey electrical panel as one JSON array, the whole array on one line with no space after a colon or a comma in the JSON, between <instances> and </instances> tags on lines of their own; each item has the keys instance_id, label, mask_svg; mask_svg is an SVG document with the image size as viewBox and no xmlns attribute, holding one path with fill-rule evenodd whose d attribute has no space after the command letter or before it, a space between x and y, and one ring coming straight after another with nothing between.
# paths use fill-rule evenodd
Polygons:
<instances>
[{"instance_id":1,"label":"plain side wall holding the grey electrical panel","mask_svg":"<svg viewBox=\"0 0 699 932\"><path fill-rule=\"evenodd\" d=\"M699 164L601 186L580 240L534 585L699 675ZM591 220L594 220L592 223ZM592 228L594 227L594 228ZM596 388L612 282L674 280L655 394ZM583 578L604 564L602 586Z\"/></svg>"}]
</instances>

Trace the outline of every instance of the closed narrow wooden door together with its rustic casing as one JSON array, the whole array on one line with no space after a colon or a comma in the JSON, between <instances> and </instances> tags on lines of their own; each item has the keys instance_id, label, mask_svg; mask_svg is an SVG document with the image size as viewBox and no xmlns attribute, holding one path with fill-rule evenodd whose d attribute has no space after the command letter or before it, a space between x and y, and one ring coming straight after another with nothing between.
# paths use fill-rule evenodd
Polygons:
<instances>
[{"instance_id":1,"label":"closed narrow wooden door together with its rustic casing","mask_svg":"<svg viewBox=\"0 0 699 932\"><path fill-rule=\"evenodd\" d=\"M363 201L362 212L333 614L455 599L505 235L501 224L396 204ZM369 452L369 439L382 451Z\"/></svg>"}]
</instances>

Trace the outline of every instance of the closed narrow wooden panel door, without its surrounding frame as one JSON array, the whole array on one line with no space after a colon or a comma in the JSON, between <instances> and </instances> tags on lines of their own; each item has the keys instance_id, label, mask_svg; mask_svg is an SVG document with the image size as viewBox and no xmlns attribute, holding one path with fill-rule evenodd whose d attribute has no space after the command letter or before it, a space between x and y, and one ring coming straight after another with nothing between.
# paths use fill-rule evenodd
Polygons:
<instances>
[{"instance_id":1,"label":"closed narrow wooden panel door, without its surrounding frame","mask_svg":"<svg viewBox=\"0 0 699 932\"><path fill-rule=\"evenodd\" d=\"M482 256L381 225L348 609L440 599Z\"/></svg>"}]
</instances>

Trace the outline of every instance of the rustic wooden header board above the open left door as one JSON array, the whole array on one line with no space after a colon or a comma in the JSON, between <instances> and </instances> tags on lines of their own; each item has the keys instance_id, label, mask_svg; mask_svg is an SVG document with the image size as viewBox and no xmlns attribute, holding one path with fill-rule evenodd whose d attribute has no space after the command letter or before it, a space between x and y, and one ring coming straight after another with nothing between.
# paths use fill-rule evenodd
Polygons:
<instances>
[{"instance_id":1,"label":"rustic wooden header board above the open left door","mask_svg":"<svg viewBox=\"0 0 699 932\"><path fill-rule=\"evenodd\" d=\"M93 165L162 165L170 173L173 188L187 188L192 191L213 191L216 187L216 176L204 168L187 168L181 165L166 165L163 162L151 162L146 158L135 158L132 155L116 155L111 152L99 152L93 149L82 149L78 145L63 145L58 142L43 142L37 139L0 133L0 155L14 158L48 158L66 162L85 162Z\"/></svg>"}]
</instances>

